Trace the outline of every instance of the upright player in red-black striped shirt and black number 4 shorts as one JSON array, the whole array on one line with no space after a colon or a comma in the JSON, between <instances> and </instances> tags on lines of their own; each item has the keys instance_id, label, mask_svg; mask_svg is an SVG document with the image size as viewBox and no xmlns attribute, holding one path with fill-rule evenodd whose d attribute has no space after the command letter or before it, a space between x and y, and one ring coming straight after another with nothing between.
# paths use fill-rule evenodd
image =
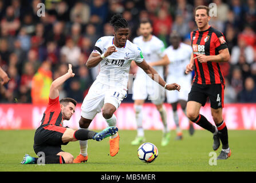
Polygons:
<instances>
[{"instance_id":1,"label":"upright player in red-black striped shirt and black number 4 shorts","mask_svg":"<svg viewBox=\"0 0 256 183\"><path fill-rule=\"evenodd\" d=\"M193 53L186 67L186 73L195 69L188 94L187 116L192 122L213 133L212 149L217 150L222 142L222 151L217 159L225 160L231 156L231 150L227 126L222 116L225 80L219 62L228 62L230 54L223 33L208 24L210 18L207 6L196 7L195 22L198 29L191 32ZM210 98L211 115L216 126L199 113L207 98Z\"/></svg>"}]
</instances>

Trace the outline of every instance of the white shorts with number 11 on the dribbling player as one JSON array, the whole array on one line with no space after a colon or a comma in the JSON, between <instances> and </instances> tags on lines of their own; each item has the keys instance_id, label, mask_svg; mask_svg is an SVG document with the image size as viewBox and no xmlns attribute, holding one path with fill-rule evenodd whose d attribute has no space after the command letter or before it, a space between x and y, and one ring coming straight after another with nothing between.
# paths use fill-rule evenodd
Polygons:
<instances>
[{"instance_id":1,"label":"white shorts with number 11 on the dribbling player","mask_svg":"<svg viewBox=\"0 0 256 183\"><path fill-rule=\"evenodd\" d=\"M104 104L109 103L119 108L121 101L127 97L127 89L123 87L109 87L99 81L94 81L90 86L81 106L81 116L93 120L101 112Z\"/></svg>"}]
</instances>

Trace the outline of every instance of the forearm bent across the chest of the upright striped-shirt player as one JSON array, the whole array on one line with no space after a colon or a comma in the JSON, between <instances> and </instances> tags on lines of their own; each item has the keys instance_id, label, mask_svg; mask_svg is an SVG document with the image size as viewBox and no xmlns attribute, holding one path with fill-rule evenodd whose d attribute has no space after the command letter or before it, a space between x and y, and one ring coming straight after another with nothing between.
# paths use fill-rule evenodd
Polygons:
<instances>
[{"instance_id":1,"label":"forearm bent across the chest of the upright striped-shirt player","mask_svg":"<svg viewBox=\"0 0 256 183\"><path fill-rule=\"evenodd\" d=\"M229 49L223 49L219 51L218 55L204 55L204 54L196 54L194 59L198 59L200 63L203 62L228 62L230 59Z\"/></svg>"}]
</instances>

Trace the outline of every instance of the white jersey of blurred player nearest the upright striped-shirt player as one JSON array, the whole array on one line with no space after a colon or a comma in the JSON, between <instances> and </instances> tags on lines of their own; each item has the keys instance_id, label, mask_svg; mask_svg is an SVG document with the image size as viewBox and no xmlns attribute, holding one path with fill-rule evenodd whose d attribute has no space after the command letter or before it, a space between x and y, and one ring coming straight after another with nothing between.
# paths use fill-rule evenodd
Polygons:
<instances>
[{"instance_id":1,"label":"white jersey of blurred player nearest the upright striped-shirt player","mask_svg":"<svg viewBox=\"0 0 256 183\"><path fill-rule=\"evenodd\" d=\"M164 55L167 55L171 62L168 65L168 75L172 75L173 77L183 77L186 66L190 63L191 53L191 46L185 43L180 43L176 50L173 46L167 47L167 49L164 50Z\"/></svg>"}]
</instances>

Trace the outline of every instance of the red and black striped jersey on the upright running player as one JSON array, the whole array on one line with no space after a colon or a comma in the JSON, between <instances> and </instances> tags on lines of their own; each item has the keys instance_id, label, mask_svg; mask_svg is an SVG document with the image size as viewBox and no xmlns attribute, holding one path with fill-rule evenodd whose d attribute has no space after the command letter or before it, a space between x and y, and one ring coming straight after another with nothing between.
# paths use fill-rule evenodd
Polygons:
<instances>
[{"instance_id":1,"label":"red and black striped jersey on the upright running player","mask_svg":"<svg viewBox=\"0 0 256 183\"><path fill-rule=\"evenodd\" d=\"M192 31L190 37L194 58L196 57L195 54L218 55L219 50L227 48L223 33L211 26L205 31L199 31L198 29ZM200 85L225 84L218 62L200 63L198 59L195 59L194 62L195 76L193 82Z\"/></svg>"}]
</instances>

